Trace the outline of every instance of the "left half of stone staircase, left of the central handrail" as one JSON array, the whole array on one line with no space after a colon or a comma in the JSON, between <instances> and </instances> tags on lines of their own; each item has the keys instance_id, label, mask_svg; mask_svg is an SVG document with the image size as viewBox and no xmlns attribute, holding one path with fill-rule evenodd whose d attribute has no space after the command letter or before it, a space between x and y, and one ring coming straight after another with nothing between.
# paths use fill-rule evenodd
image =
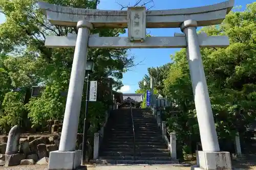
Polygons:
<instances>
[{"instance_id":1,"label":"left half of stone staircase, left of the central handrail","mask_svg":"<svg viewBox=\"0 0 256 170\"><path fill-rule=\"evenodd\" d=\"M131 110L116 110L108 121L99 157L104 160L132 160L134 135Z\"/></svg>"}]
</instances>

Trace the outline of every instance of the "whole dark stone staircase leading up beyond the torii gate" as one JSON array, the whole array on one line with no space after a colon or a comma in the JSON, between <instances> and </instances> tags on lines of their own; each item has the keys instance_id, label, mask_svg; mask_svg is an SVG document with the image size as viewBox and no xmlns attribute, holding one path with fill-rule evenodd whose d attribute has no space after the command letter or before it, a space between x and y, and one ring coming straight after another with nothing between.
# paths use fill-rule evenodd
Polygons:
<instances>
[{"instance_id":1,"label":"whole dark stone staircase leading up beyond the torii gate","mask_svg":"<svg viewBox=\"0 0 256 170\"><path fill-rule=\"evenodd\" d=\"M172 164L156 119L149 109L131 109L112 113L99 150L98 164Z\"/></svg>"}]
</instances>

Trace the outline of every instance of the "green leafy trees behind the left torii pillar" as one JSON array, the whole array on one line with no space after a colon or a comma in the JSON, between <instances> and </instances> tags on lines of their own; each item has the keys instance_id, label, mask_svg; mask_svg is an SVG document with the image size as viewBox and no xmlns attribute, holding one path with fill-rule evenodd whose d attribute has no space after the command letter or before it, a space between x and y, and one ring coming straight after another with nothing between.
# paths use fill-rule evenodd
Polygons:
<instances>
[{"instance_id":1,"label":"green leafy trees behind the left torii pillar","mask_svg":"<svg viewBox=\"0 0 256 170\"><path fill-rule=\"evenodd\" d=\"M75 8L96 9L95 1L47 0L45 2ZM33 126L45 126L47 119L62 119L65 112L67 93L74 48L47 48L46 36L67 36L77 34L76 27L52 26L37 7L34 0L3 0L0 10L6 16L6 22L0 25L0 112L4 127L12 125L8 115L14 112L11 105L1 107L4 99L8 100L8 92L28 89L31 86L44 85L45 90L38 98L30 99L23 107ZM92 34L113 37L125 32L124 29L97 28ZM95 130L102 123L106 106L112 104L108 77L113 77L113 87L122 86L122 74L134 65L134 57L126 55L125 49L89 49L88 58L95 63L95 71L91 80L98 81L98 102L90 104L89 121ZM8 54L8 55L7 55ZM86 83L84 84L86 86ZM86 87L84 87L86 89ZM29 95L29 94L27 94ZM83 91L81 115L84 114L86 90ZM23 93L23 97L25 94ZM25 102L24 102L25 103ZM24 115L27 118L27 114ZM5 117L7 116L7 117ZM96 117L95 117L96 116ZM80 121L80 127L83 121Z\"/></svg>"}]
</instances>

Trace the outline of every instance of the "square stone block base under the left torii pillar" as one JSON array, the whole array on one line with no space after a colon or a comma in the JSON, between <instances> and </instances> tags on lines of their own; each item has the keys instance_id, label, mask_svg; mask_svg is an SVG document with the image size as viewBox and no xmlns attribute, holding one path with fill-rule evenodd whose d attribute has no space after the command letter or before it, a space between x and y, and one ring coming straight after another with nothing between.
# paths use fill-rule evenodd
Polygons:
<instances>
[{"instance_id":1,"label":"square stone block base under the left torii pillar","mask_svg":"<svg viewBox=\"0 0 256 170\"><path fill-rule=\"evenodd\" d=\"M81 154L79 151L62 152L52 151L49 156L49 170L72 170L81 165Z\"/></svg>"}]
</instances>

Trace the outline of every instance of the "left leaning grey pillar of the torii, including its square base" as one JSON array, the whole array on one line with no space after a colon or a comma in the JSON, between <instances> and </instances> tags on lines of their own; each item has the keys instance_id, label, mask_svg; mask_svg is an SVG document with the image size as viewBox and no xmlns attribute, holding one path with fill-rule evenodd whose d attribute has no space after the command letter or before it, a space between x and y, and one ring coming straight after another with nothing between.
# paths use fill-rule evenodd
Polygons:
<instances>
[{"instance_id":1,"label":"left leaning grey pillar of the torii, including its square base","mask_svg":"<svg viewBox=\"0 0 256 170\"><path fill-rule=\"evenodd\" d=\"M78 120L86 74L88 40L93 28L88 21L77 22L77 39L73 58L59 150L50 152L49 169L76 169L81 164L81 151L75 150Z\"/></svg>"}]
</instances>

